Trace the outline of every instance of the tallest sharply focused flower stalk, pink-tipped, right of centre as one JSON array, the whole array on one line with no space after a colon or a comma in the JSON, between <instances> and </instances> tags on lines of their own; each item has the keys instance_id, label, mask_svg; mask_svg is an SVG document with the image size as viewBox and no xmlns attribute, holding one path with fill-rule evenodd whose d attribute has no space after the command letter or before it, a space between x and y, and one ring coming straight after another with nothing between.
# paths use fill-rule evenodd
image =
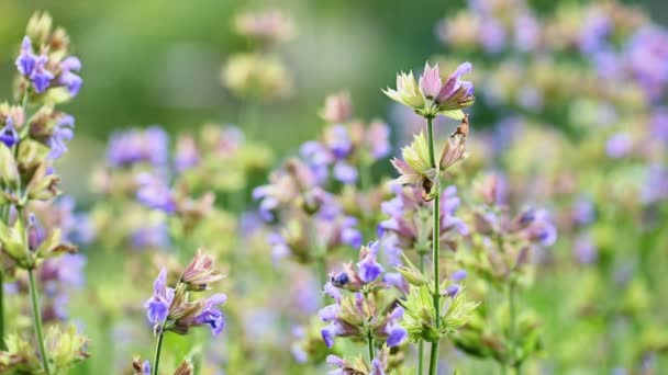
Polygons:
<instances>
[{"instance_id":1,"label":"tallest sharply focused flower stalk, pink-tipped, right of centre","mask_svg":"<svg viewBox=\"0 0 668 375\"><path fill-rule=\"evenodd\" d=\"M433 332L420 332L421 339L417 343L417 372L423 370L423 339L428 338L432 342L430 354L430 374L436 374L438 366L438 346L439 340L444 332L443 329L443 311L441 298L441 270L439 270L439 245L441 245L441 174L448 167L466 158L465 140L468 135L468 118L461 111L463 107L474 103L472 95L474 86L471 82L461 81L459 78L471 70L469 63L461 64L448 79L443 82L438 66L431 67L425 65L424 72L419 81L415 81L413 72L401 73L397 77L397 89L387 89L383 92L392 100L408 105L419 115L426 120L427 137L425 141L424 134L415 135L413 144L402 150L404 160L392 160L392 164L401 173L397 179L398 183L415 184L422 188L422 197L424 201L433 201L432 211L432 264L433 264L433 285L428 291L432 298L433 308ZM446 141L446 147L443 150L438 163L436 163L436 154L434 149L434 118L443 114L448 117L461 120L461 125ZM413 283L417 286L423 286L421 280L423 273L423 255L420 254L420 270L411 270L419 275L414 275L413 280L420 282ZM405 276L405 274L404 274ZM458 291L458 289L457 289ZM417 291L414 291L419 293ZM454 293L453 297L457 292ZM410 298L410 296L409 296ZM408 305L407 305L408 306ZM415 306L419 309L419 306Z\"/></svg>"}]
</instances>

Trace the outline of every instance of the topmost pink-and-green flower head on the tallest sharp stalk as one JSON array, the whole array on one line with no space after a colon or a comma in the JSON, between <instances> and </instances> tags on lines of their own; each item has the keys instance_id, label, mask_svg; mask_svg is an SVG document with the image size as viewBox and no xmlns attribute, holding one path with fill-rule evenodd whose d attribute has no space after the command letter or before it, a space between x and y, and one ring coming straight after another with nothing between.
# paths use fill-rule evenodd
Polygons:
<instances>
[{"instance_id":1,"label":"topmost pink-and-green flower head on the tallest sharp stalk","mask_svg":"<svg viewBox=\"0 0 668 375\"><path fill-rule=\"evenodd\" d=\"M412 107L423 117L436 117L443 114L455 120L464 118L461 109L471 105L474 99L474 84L461 81L459 78L470 72L470 63L461 64L443 83L438 65L431 67L425 64L424 72L415 82L413 72L401 72L397 76L397 89L383 90L390 99Z\"/></svg>"}]
</instances>

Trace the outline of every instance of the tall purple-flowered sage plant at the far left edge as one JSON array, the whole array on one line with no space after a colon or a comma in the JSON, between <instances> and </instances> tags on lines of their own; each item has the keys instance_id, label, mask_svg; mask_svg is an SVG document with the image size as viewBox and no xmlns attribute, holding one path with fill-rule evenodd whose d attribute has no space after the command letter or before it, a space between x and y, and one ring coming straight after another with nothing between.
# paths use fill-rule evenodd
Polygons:
<instances>
[{"instance_id":1,"label":"tall purple-flowered sage plant at the far left edge","mask_svg":"<svg viewBox=\"0 0 668 375\"><path fill-rule=\"evenodd\" d=\"M37 279L66 271L63 253L76 252L58 226L44 230L33 214L36 202L53 202L60 194L54 162L67 151L75 120L56 105L75 98L82 80L81 63L69 55L69 37L52 27L48 13L35 13L29 21L19 56L14 96L18 103L0 105L0 245L3 270L9 275L27 273L32 326L36 349L20 332L8 334L4 304L0 303L0 370L43 372L47 375L86 359L87 339L76 330L53 326L44 334L43 309ZM51 270L51 271L49 271ZM0 293L4 287L0 287ZM0 302L4 296L0 295Z\"/></svg>"}]
</instances>

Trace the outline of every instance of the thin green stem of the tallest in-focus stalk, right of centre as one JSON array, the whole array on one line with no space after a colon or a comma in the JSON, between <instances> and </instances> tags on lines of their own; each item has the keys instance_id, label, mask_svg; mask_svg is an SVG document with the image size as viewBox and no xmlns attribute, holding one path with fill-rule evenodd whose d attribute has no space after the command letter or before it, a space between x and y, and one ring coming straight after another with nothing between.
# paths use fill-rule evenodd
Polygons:
<instances>
[{"instance_id":1,"label":"thin green stem of the tallest in-focus stalk, right of centre","mask_svg":"<svg viewBox=\"0 0 668 375\"><path fill-rule=\"evenodd\" d=\"M426 117L426 125L428 132L428 147L430 147L430 162L432 168L436 168L436 158L434 156L434 124L432 117ZM436 179L441 179L441 175L436 173ZM435 189L438 189L438 183L434 184ZM438 282L438 266L439 266L439 254L438 254L438 246L441 245L441 200L438 196L439 192L436 192L436 197L434 198L434 212L433 219L434 224L432 227L432 254L433 254L433 265L434 265L434 312L435 312L435 323L436 327L441 327L441 285ZM430 357L430 374L436 374L436 367L438 367L438 341L432 343L432 354Z\"/></svg>"}]
</instances>

